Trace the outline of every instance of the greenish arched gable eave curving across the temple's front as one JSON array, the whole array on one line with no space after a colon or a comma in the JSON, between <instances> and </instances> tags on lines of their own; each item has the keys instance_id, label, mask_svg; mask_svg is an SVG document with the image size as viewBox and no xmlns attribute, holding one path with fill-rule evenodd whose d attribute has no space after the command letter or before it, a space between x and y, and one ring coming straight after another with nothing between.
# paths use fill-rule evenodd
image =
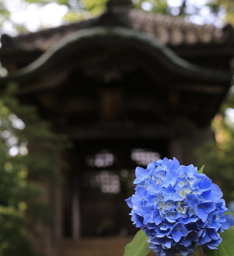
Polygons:
<instances>
[{"instance_id":1,"label":"greenish arched gable eave curving across the temple's front","mask_svg":"<svg viewBox=\"0 0 234 256\"><path fill-rule=\"evenodd\" d=\"M56 63L60 63L60 70L63 70L61 71L62 73L66 73L70 69L70 65L63 62L64 56L66 58L76 56L75 62L78 63L81 53L87 51L89 47L100 46L121 46L131 50L141 51L146 56L148 55L153 58L155 63L160 63L168 73L183 79L194 79L203 83L219 84L229 83L232 77L230 72L214 71L191 64L179 58L169 48L157 42L157 40L151 39L143 33L121 27L111 29L107 27L96 27L83 29L66 36L27 67L13 72L8 77L1 78L0 85L10 80L24 81L26 83L22 83L21 93L30 92L36 88L36 90L40 90L40 88L46 88L46 86L51 87L54 84L54 80L57 81L59 76L59 74L52 75L53 72L57 72ZM50 74L50 80L47 83L41 83L39 77L42 75L46 76L47 73ZM38 77L39 81L36 77ZM27 87L28 83L30 83L30 87Z\"/></svg>"}]
</instances>

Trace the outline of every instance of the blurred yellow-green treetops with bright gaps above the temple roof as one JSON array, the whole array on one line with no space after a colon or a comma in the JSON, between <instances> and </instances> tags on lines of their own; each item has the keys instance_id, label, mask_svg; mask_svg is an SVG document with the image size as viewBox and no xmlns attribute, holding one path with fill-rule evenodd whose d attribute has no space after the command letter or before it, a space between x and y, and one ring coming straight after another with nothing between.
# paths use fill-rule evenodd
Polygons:
<instances>
[{"instance_id":1,"label":"blurred yellow-green treetops with bright gaps above the temple roof","mask_svg":"<svg viewBox=\"0 0 234 256\"><path fill-rule=\"evenodd\" d=\"M16 32L27 32L27 28L24 25L12 19L7 4L9 1L10 0L0 0L0 31L3 24L8 22ZM24 8L30 4L41 7L51 3L66 6L67 12L63 17L63 22L65 23L96 17L104 11L107 1L108 0L20 0ZM133 7L137 9L144 10L145 6L147 6L148 11L186 17L188 20L189 17L196 16L198 19L202 17L205 22L208 22L209 19L207 18L212 17L212 20L221 19L223 22L234 24L233 0L205 0L202 1L202 3L201 1L192 0L180 0L175 2L172 0L132 0L132 4Z\"/></svg>"}]
</instances>

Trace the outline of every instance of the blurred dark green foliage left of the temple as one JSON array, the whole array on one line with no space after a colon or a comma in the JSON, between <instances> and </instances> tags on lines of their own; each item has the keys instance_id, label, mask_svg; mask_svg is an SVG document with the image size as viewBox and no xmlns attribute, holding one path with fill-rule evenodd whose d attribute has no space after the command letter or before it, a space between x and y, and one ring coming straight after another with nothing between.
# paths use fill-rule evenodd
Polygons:
<instances>
[{"instance_id":1,"label":"blurred dark green foliage left of the temple","mask_svg":"<svg viewBox=\"0 0 234 256\"><path fill-rule=\"evenodd\" d=\"M9 89L0 99L0 256L34 256L29 234L39 237L37 225L52 223L40 185L59 181L57 153L63 139L51 132L34 107L11 96L15 85ZM20 117L23 129L17 128ZM12 147L19 154L11 156Z\"/></svg>"}]
</instances>

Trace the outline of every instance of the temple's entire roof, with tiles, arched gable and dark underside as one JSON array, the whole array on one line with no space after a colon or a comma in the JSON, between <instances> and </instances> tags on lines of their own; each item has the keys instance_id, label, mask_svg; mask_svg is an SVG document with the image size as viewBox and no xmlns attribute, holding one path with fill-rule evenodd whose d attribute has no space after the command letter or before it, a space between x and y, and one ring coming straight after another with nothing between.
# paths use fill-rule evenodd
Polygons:
<instances>
[{"instance_id":1,"label":"temple's entire roof, with tiles, arched gable and dark underside","mask_svg":"<svg viewBox=\"0 0 234 256\"><path fill-rule=\"evenodd\" d=\"M220 55L221 58L224 55L221 62L219 62L220 57L217 58L216 55L216 59L210 61L212 64L221 63L221 65L215 65L220 70L192 64L175 54L176 47L180 47L182 51L189 49L191 53L193 46L200 47L205 54L210 49L215 49L216 55ZM207 125L230 87L232 74L229 72L229 60L233 56L234 36L233 28L230 25L220 29L212 25L199 26L186 23L178 18L136 10L127 10L121 13L109 10L96 19L14 38L2 36L0 58L12 63L15 61L17 64L17 58L32 55L38 50L40 54L36 55L37 58L34 58L34 60L36 59L34 62L11 72L8 77L1 78L0 87L5 88L9 81L16 81L20 84L18 92L20 97L24 97L25 102L28 102L30 98L31 103L35 101L40 105L42 104L40 97L45 92L48 92L46 97L49 100L51 100L49 95L51 93L53 95L53 92L57 94L58 99L63 97L61 91L67 92L70 82L71 86L74 86L73 89L80 90L78 89L78 76L73 81L69 80L74 72L81 76L85 74L89 82L83 80L80 87L87 87L83 90L89 91L95 84L95 81L89 80L90 77L87 74L90 68L96 69L96 73L99 75L103 75L106 69L110 68L111 72L117 70L117 73L123 73L123 77L126 73L135 75L142 70L144 75L142 73L141 79L147 79L149 83L146 91L159 92L165 96L165 100L158 103L161 104L162 110L157 110L154 93L148 95L147 101L152 102L150 104L154 106L148 108L148 115L156 111L157 115L163 116L163 113L168 114L173 110L170 115L176 116L182 113L192 121ZM9 60L9 56L12 59ZM38 58L38 56L40 57ZM196 53L195 57L197 58ZM201 59L202 62L203 60ZM209 67L209 65L207 66ZM105 82L103 83L105 84ZM120 87L128 87L128 82L123 82L120 85ZM134 86L133 83L125 89L135 91ZM59 90L54 90L55 87L58 87ZM133 111L132 113L136 111L137 116L139 116L139 111L135 108L135 103L131 102L138 102L138 105L139 101L142 102L142 113L144 113L143 107L145 106L145 99L139 98L141 97L141 85L138 84L138 87L134 95L128 93L130 103L127 110ZM38 92L41 92L41 95L37 94ZM95 92L97 95L99 94L99 92ZM118 93L122 95L121 91ZM82 98L82 95L80 97ZM97 116L95 112L98 108L95 105L97 99L91 98L87 99L87 107L88 105L95 106L92 108L93 112L90 111L93 116ZM79 100L81 104L82 100ZM91 105L88 102L92 102ZM46 108L45 105L44 108ZM63 109L58 110L55 107L53 111L60 111L56 112L59 117ZM86 112L83 112L82 115L86 116ZM144 115L142 114L142 117Z\"/></svg>"}]
</instances>

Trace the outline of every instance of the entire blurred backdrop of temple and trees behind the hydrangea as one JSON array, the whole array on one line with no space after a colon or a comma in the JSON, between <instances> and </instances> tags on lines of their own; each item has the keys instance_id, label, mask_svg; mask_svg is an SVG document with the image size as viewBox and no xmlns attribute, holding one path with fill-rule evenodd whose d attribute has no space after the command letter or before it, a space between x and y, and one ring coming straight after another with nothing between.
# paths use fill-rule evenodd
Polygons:
<instances>
[{"instance_id":1,"label":"entire blurred backdrop of temple and trees behind the hydrangea","mask_svg":"<svg viewBox=\"0 0 234 256\"><path fill-rule=\"evenodd\" d=\"M153 159L204 164L234 211L233 11L0 1L0 256L123 255Z\"/></svg>"}]
</instances>

